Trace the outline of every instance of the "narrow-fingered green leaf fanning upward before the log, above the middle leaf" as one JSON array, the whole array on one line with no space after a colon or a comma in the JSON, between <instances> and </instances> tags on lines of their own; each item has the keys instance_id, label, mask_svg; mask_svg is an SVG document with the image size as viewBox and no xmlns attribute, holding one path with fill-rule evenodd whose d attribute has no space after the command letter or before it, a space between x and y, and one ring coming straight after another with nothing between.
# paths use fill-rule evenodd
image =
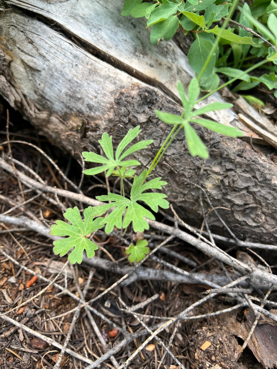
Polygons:
<instances>
[{"instance_id":1,"label":"narrow-fingered green leaf fanning upward before the log, above the middle leaf","mask_svg":"<svg viewBox=\"0 0 277 369\"><path fill-rule=\"evenodd\" d=\"M133 165L140 165L140 162L138 162L137 160L123 160L124 158L126 158L126 156L133 154L133 152L136 152L138 150L145 149L147 145L150 145L153 142L153 140L148 141L143 140L137 142L136 144L132 145L129 149L123 152L126 146L129 145L130 142L133 141L133 139L136 138L140 132L141 130L139 125L136 128L130 129L127 132L126 136L123 137L122 141L120 142L120 144L116 149L115 158L113 155L112 136L109 136L106 132L103 133L102 140L99 140L98 142L102 146L102 149L107 158L95 154L94 152L87 151L83 152L82 155L85 158L85 161L89 161L92 163L101 163L104 165L92 169L86 169L84 170L84 173L87 175L96 175L98 173L105 172L106 170L107 171L106 176L109 177L116 166L127 167Z\"/></svg>"}]
</instances>

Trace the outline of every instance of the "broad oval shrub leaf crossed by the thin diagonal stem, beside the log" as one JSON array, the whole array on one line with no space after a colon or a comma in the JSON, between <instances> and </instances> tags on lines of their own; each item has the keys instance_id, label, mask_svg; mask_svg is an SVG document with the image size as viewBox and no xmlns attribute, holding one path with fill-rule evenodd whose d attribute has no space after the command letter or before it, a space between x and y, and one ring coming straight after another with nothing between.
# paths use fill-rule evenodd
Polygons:
<instances>
[{"instance_id":1,"label":"broad oval shrub leaf crossed by the thin diagonal stem, beside the log","mask_svg":"<svg viewBox=\"0 0 277 369\"><path fill-rule=\"evenodd\" d=\"M189 65L196 73L199 74L201 72L210 54L212 46L213 45L210 41L200 38L198 37L198 34L196 34L196 40L193 42L188 52ZM203 74L204 78L212 74L213 67L215 66L215 61L216 54L213 54Z\"/></svg>"}]
</instances>

